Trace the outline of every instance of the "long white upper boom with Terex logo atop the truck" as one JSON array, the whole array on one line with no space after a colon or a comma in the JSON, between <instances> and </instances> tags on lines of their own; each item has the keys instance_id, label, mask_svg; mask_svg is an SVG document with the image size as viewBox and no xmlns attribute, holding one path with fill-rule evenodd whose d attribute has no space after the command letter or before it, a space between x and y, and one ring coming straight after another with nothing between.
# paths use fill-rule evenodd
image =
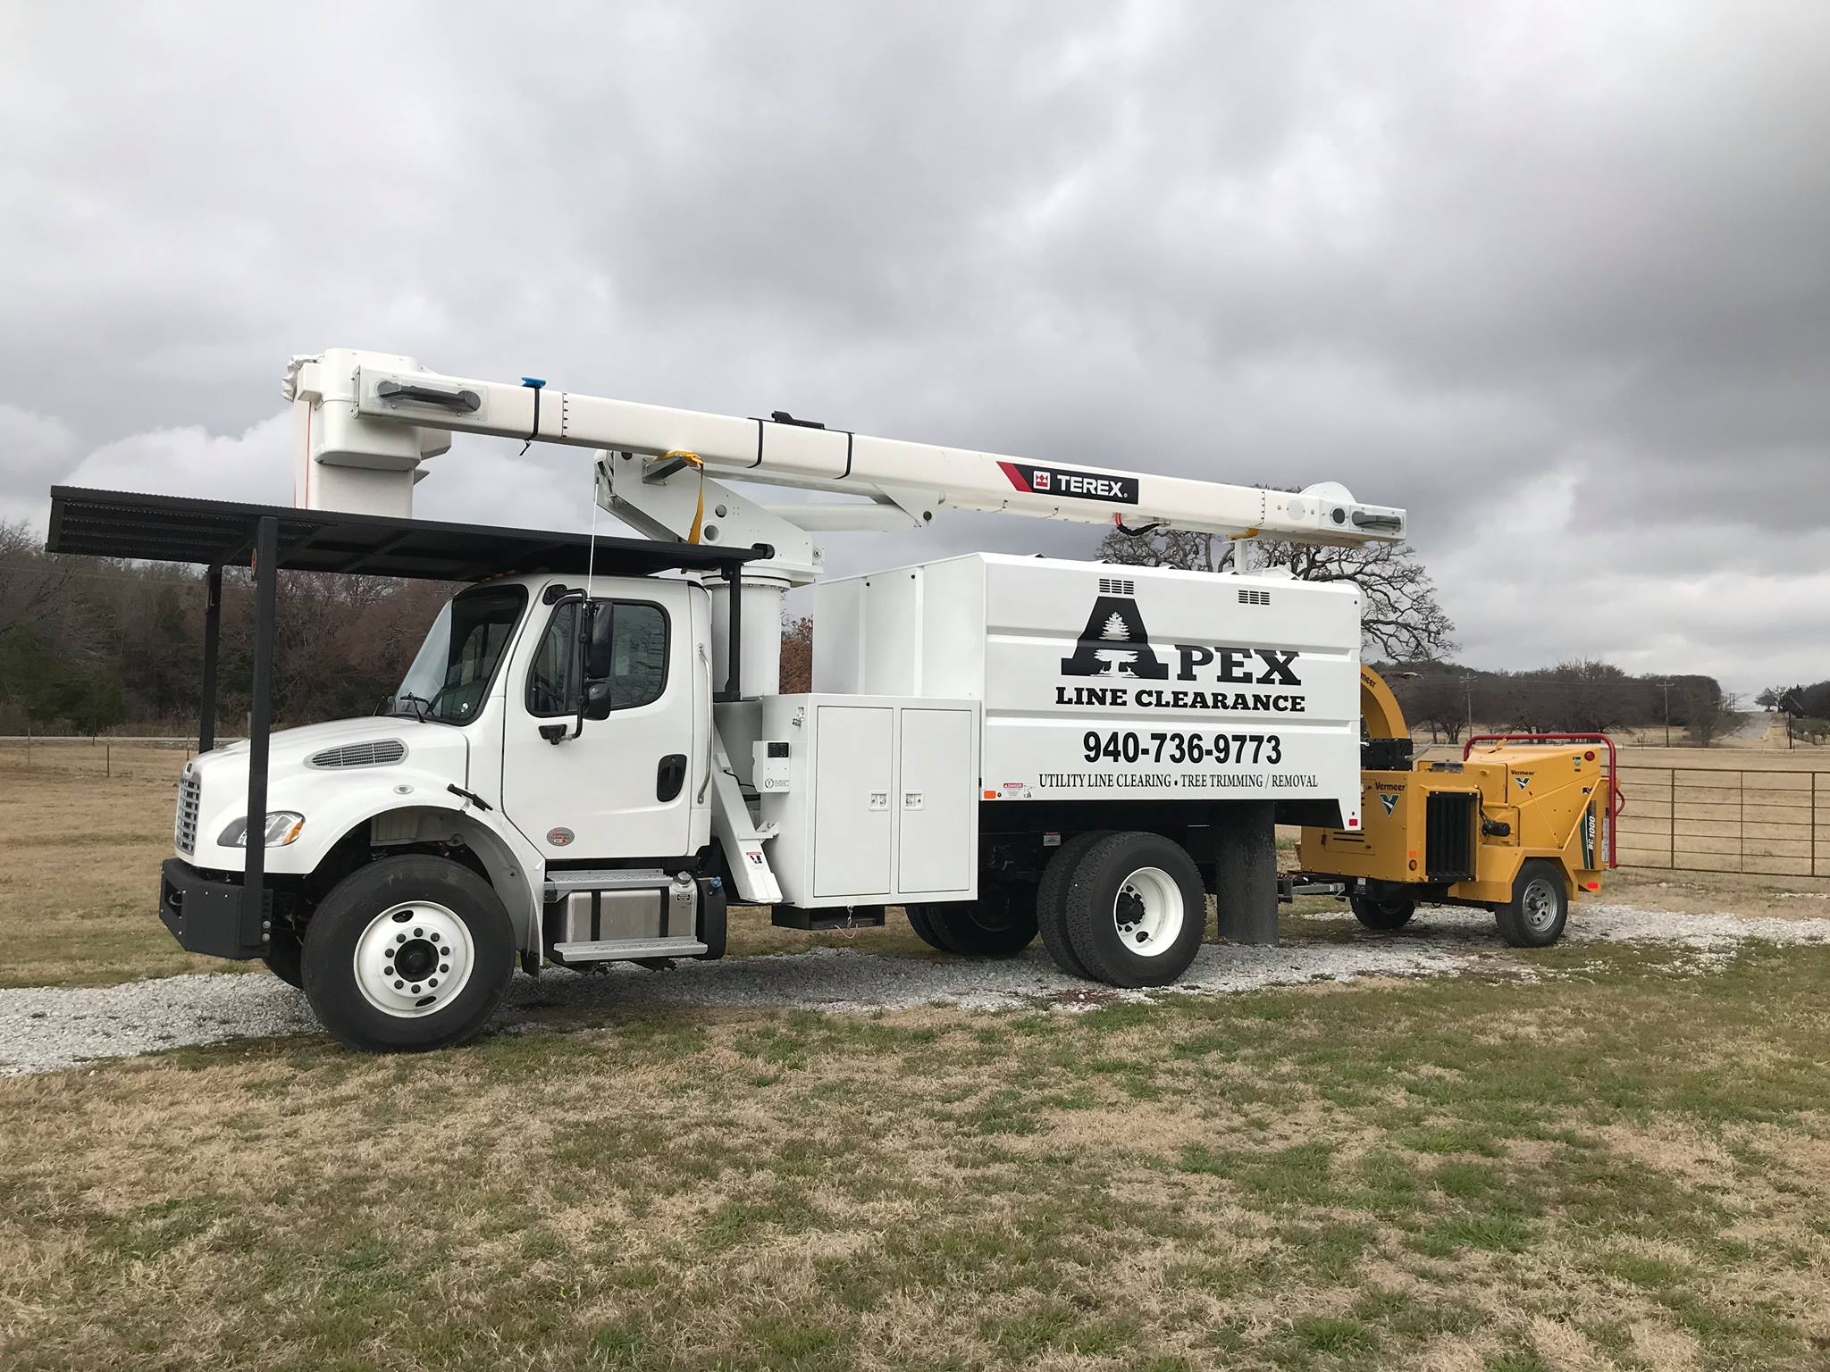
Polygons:
<instances>
[{"instance_id":1,"label":"long white upper boom with Terex logo atop the truck","mask_svg":"<svg viewBox=\"0 0 1830 1372\"><path fill-rule=\"evenodd\" d=\"M419 461L443 450L441 432L459 432L650 457L690 452L714 476L851 492L893 505L906 505L904 492L933 492L939 503L961 510L1080 523L1122 520L1133 527L1158 523L1303 543L1393 541L1405 532L1404 510L1362 505L1332 483L1288 494L1034 463L838 428L611 401L551 386L445 377L410 357L342 348L295 357L284 393L300 410L298 503L307 509L410 514Z\"/></svg>"}]
</instances>

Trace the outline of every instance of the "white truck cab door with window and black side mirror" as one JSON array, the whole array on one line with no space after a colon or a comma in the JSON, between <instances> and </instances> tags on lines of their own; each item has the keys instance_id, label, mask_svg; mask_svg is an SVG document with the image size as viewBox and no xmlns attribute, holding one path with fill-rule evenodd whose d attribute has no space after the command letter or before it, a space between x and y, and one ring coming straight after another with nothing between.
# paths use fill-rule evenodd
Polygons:
<instances>
[{"instance_id":1,"label":"white truck cab door with window and black side mirror","mask_svg":"<svg viewBox=\"0 0 1830 1372\"><path fill-rule=\"evenodd\" d=\"M509 682L501 809L549 860L662 860L694 849L705 768L695 754L710 710L708 668L694 653L694 593L703 595L686 582L630 580L615 591L598 582L593 615L580 613L580 600L534 606L533 648ZM586 620L587 712L573 737Z\"/></svg>"}]
</instances>

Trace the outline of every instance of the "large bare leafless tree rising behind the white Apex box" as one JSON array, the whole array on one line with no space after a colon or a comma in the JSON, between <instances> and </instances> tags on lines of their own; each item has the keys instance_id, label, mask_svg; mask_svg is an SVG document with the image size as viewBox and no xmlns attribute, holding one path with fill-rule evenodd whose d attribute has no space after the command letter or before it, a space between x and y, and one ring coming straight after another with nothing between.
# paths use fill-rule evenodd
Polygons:
<instances>
[{"instance_id":1,"label":"large bare leafless tree rising behind the white Apex box","mask_svg":"<svg viewBox=\"0 0 1830 1372\"><path fill-rule=\"evenodd\" d=\"M1286 567L1301 582L1358 585L1365 596L1360 629L1367 649L1394 662L1433 662L1455 649L1455 624L1437 604L1437 587L1409 543L1310 547L1257 540L1254 547L1266 565ZM1146 534L1113 529L1100 540L1100 558L1127 567L1222 571L1232 565L1233 543L1221 534L1180 529Z\"/></svg>"}]
</instances>

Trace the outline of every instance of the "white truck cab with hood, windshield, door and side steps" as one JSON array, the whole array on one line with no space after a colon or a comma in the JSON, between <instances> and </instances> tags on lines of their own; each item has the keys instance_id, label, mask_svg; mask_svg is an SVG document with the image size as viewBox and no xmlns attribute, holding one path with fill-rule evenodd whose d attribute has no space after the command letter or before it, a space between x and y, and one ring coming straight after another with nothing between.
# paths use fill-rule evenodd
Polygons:
<instances>
[{"instance_id":1,"label":"white truck cab with hood, windshield, door and side steps","mask_svg":"<svg viewBox=\"0 0 1830 1372\"><path fill-rule=\"evenodd\" d=\"M359 867L408 856L487 882L527 966L716 955L710 631L706 589L673 576L509 576L454 596L382 713L271 735L262 955L302 979L304 927L322 900ZM181 863L243 867L249 756L232 743L185 766ZM399 927L382 927L373 955L351 962L353 984L331 995L412 1002L426 1019L470 979L430 960L415 981L399 949L443 948L445 966L465 970L478 938L448 902L395 904L368 924ZM428 920L439 944L414 937Z\"/></svg>"}]
</instances>

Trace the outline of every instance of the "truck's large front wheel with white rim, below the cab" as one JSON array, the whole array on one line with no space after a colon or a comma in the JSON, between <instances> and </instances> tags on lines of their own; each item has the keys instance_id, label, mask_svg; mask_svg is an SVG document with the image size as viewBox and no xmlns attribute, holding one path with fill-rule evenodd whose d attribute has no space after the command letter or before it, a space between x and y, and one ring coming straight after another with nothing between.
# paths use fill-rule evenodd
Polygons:
<instances>
[{"instance_id":1,"label":"truck's large front wheel with white rim, below the cab","mask_svg":"<svg viewBox=\"0 0 1830 1372\"><path fill-rule=\"evenodd\" d=\"M514 975L514 927L489 882L447 858L361 867L306 929L311 1010L362 1052L426 1052L476 1037Z\"/></svg>"}]
</instances>

